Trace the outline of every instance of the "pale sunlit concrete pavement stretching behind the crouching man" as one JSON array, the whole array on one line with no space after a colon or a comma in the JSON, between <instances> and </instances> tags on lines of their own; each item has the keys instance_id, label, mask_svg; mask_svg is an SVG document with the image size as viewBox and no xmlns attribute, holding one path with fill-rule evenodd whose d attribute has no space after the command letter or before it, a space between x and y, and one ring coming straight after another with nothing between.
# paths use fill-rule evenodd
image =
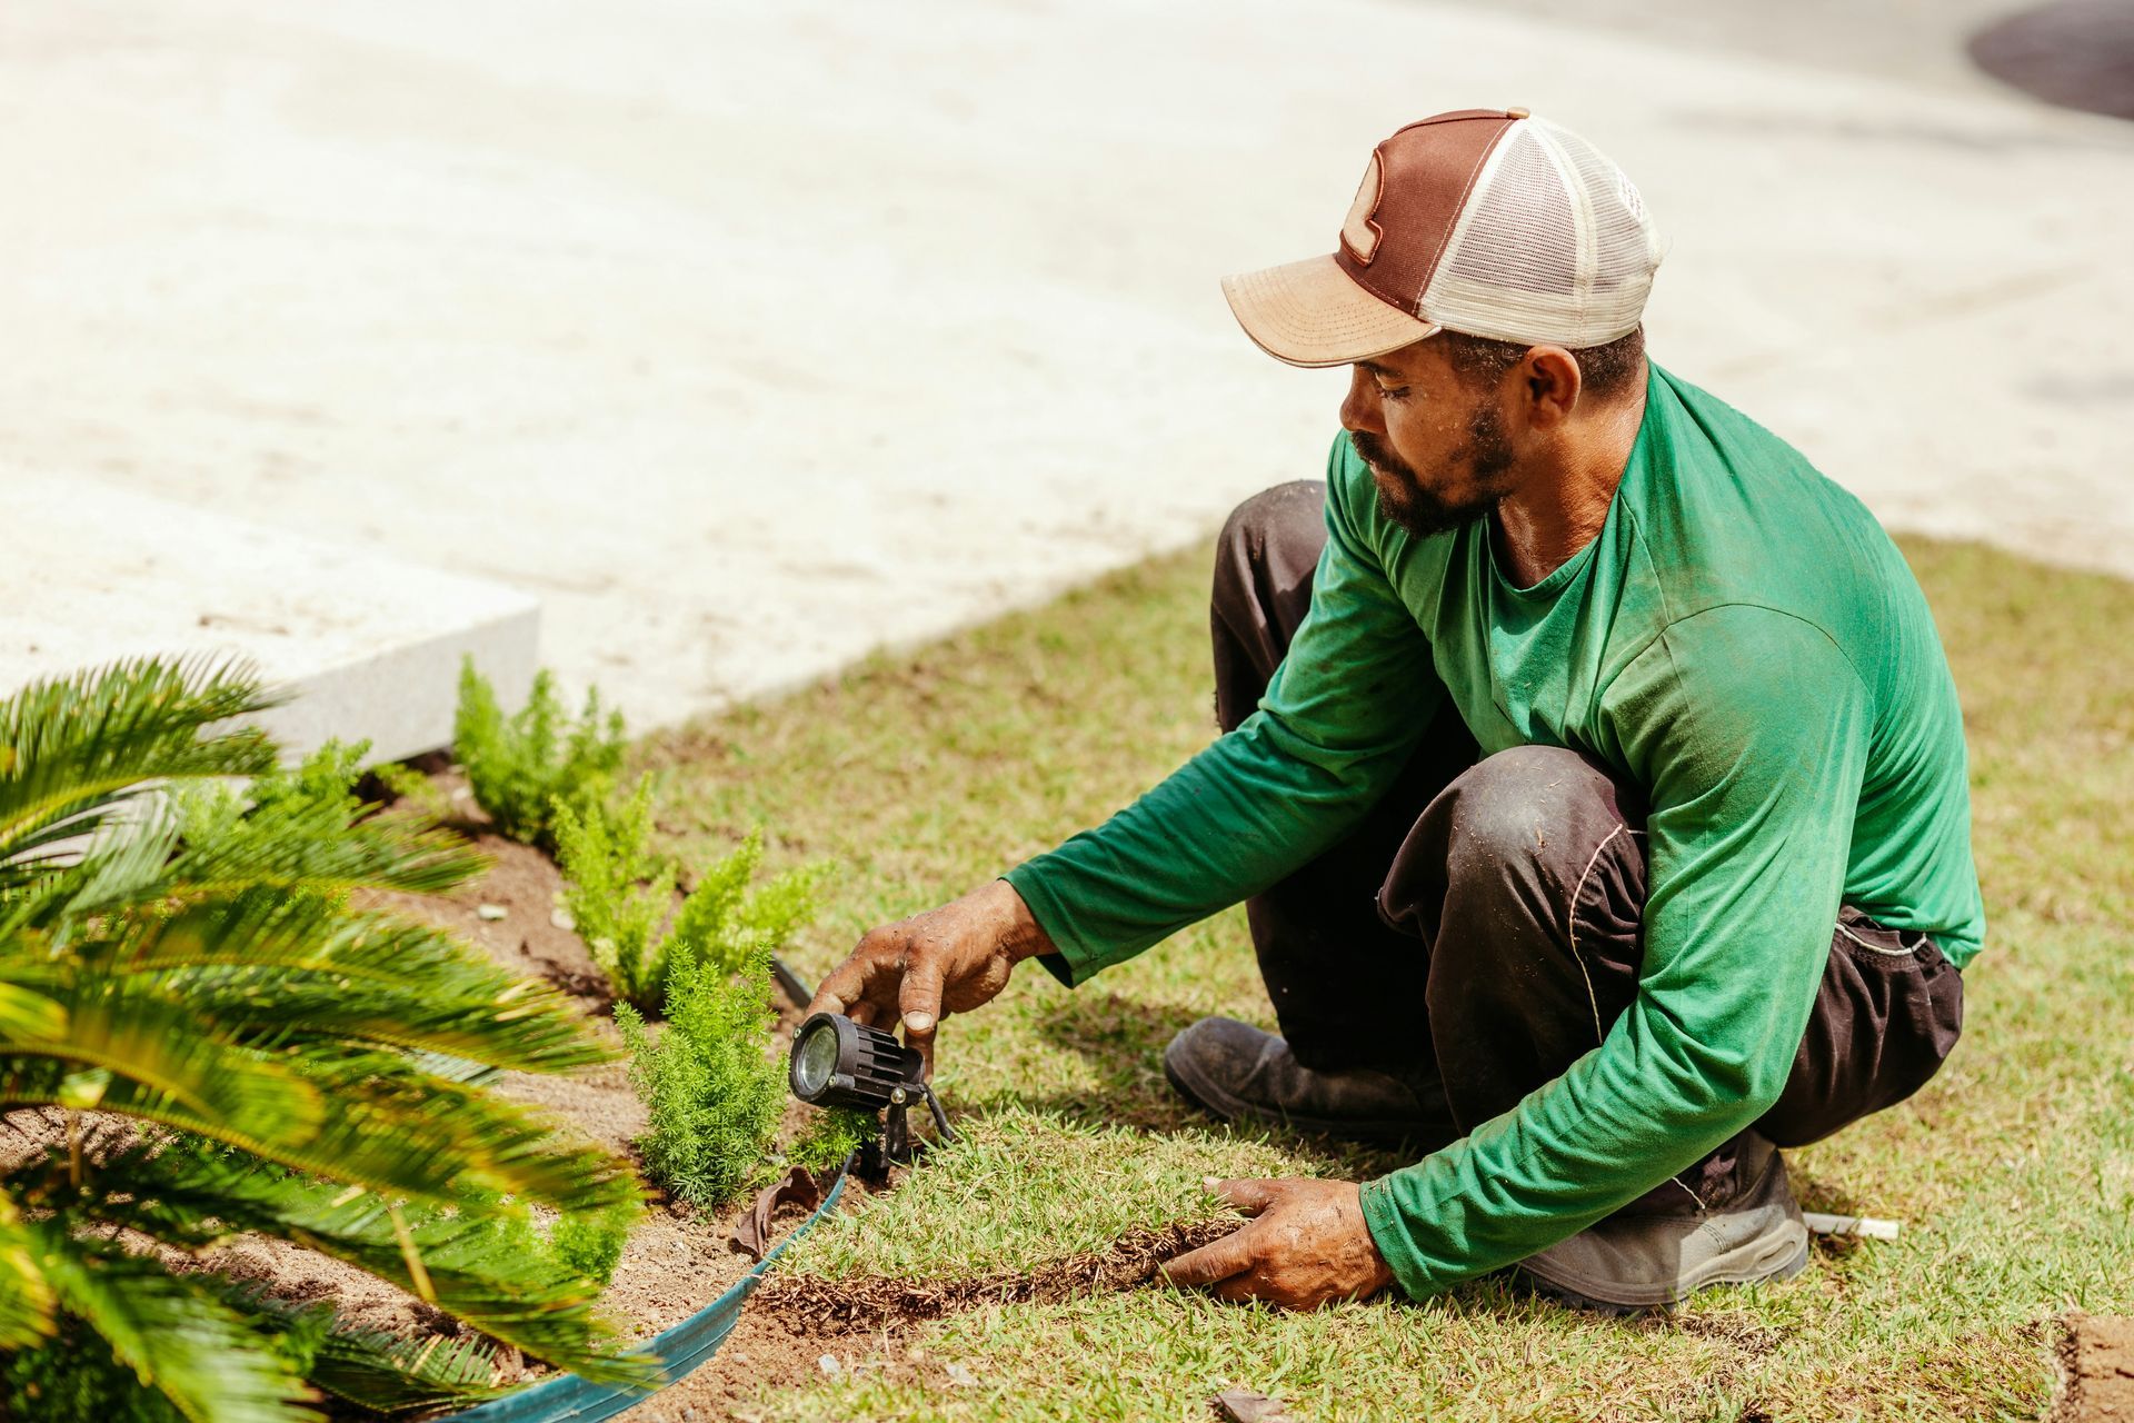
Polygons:
<instances>
[{"instance_id":1,"label":"pale sunlit concrete pavement stretching behind the crouching man","mask_svg":"<svg viewBox=\"0 0 2134 1423\"><path fill-rule=\"evenodd\" d=\"M2134 128L1389 0L21 0L0 480L536 593L681 719L1317 474L1214 279L1466 105L1609 149L1656 356L1884 521L2134 574Z\"/></svg>"}]
</instances>

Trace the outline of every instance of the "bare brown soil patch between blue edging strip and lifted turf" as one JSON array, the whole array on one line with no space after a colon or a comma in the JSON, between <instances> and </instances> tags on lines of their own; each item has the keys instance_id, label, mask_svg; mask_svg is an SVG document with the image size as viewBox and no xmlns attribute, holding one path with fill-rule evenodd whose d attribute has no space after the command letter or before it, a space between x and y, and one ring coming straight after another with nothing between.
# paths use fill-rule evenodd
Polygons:
<instances>
[{"instance_id":1,"label":"bare brown soil patch between blue edging strip and lifted turf","mask_svg":"<svg viewBox=\"0 0 2134 1423\"><path fill-rule=\"evenodd\" d=\"M1058 1304L1140 1289L1157 1265L1236 1231L1238 1220L1135 1229L1103 1252L1069 1254L1037 1269L958 1280L770 1278L749 1299L726 1344L687 1378L623 1414L627 1423L753 1419L766 1389L790 1389L834 1372L888 1378L939 1376L943 1365L913 1346L911 1325L1012 1304Z\"/></svg>"}]
</instances>

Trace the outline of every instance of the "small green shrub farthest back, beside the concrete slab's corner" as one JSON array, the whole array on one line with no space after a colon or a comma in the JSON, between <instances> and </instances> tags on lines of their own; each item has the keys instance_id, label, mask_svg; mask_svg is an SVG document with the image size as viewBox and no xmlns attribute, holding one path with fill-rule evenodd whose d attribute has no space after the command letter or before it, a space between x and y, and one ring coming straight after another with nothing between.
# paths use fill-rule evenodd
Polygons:
<instances>
[{"instance_id":1,"label":"small green shrub farthest back, beside the concrete slab's corner","mask_svg":"<svg viewBox=\"0 0 2134 1423\"><path fill-rule=\"evenodd\" d=\"M467 657L459 668L459 717L452 749L467 768L474 800L501 834L555 847L555 806L585 811L608 794L623 766L623 715L600 713L600 689L585 693L572 721L546 668L516 715L506 717L489 678Z\"/></svg>"}]
</instances>

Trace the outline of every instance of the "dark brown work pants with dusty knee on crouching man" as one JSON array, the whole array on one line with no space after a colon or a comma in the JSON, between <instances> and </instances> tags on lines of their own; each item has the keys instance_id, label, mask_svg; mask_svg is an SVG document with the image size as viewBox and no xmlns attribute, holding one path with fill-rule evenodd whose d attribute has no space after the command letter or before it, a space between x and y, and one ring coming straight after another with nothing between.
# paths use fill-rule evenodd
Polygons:
<instances>
[{"instance_id":1,"label":"dark brown work pants with dusty knee on crouching man","mask_svg":"<svg viewBox=\"0 0 2134 1423\"><path fill-rule=\"evenodd\" d=\"M1214 567L1223 730L1259 704L1310 606L1325 486L1280 484L1231 514ZM1562 1075L1637 996L1645 907L1635 787L1558 747L1477 760L1447 706L1364 824L1246 902L1283 1037L1315 1069L1443 1084L1460 1131ZM1784 1097L1780 1146L1827 1137L1916 1092L1963 1026L1936 943L1842 907ZM1684 1171L1705 1203L1733 1148ZM1662 1184L1660 1190L1669 1188Z\"/></svg>"}]
</instances>

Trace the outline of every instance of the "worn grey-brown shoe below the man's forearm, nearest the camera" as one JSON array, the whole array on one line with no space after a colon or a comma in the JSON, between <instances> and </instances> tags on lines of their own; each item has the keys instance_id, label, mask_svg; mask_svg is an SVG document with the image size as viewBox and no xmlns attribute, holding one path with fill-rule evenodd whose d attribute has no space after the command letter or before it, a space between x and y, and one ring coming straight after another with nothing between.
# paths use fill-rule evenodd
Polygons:
<instances>
[{"instance_id":1,"label":"worn grey-brown shoe below the man's forearm, nearest the camera","mask_svg":"<svg viewBox=\"0 0 2134 1423\"><path fill-rule=\"evenodd\" d=\"M1519 1263L1545 1295L1607 1314L1671 1306L1707 1284L1790 1280L1807 1265L1807 1222L1778 1148L1741 1137L1726 1203L1654 1193ZM1669 1197L1679 1197L1671 1205Z\"/></svg>"}]
</instances>

